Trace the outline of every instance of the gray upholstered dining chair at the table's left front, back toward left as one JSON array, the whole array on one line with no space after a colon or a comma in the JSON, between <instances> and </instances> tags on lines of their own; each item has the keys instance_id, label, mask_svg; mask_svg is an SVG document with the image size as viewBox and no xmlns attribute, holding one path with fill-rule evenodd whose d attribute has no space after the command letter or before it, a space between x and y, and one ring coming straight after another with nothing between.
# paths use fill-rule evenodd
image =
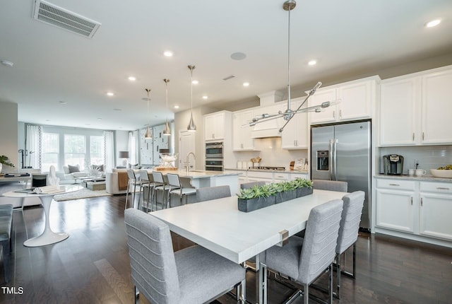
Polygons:
<instances>
[{"instance_id":1,"label":"gray upholstered dining chair at the table's left front, back toward left","mask_svg":"<svg viewBox=\"0 0 452 304\"><path fill-rule=\"evenodd\" d=\"M241 265L198 245L173 252L169 227L150 214L127 209L124 222L135 295L159 304L210 303L237 287L244 303Z\"/></svg>"}]
</instances>

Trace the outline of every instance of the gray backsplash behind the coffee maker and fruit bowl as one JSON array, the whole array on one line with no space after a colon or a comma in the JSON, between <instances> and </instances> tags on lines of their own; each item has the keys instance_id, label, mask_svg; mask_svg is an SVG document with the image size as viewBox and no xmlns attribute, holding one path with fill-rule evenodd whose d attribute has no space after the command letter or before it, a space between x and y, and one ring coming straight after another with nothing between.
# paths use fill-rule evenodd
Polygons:
<instances>
[{"instance_id":1,"label":"gray backsplash behind the coffee maker and fruit bowl","mask_svg":"<svg viewBox=\"0 0 452 304\"><path fill-rule=\"evenodd\" d=\"M427 170L448 165L452 163L452 146L406 146L388 147L379 149L380 156L387 154L400 154L403 156L403 174L407 174L408 169L415 168L415 160L419 160L420 169ZM383 165L380 157L380 172L383 172Z\"/></svg>"}]
</instances>

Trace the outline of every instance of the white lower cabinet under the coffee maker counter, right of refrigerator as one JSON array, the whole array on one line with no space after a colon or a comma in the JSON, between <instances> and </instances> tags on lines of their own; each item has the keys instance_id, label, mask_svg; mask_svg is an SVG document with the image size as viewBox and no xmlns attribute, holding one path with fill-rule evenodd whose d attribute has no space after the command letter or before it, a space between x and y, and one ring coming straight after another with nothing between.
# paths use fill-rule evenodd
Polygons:
<instances>
[{"instance_id":1,"label":"white lower cabinet under the coffee maker counter, right of refrigerator","mask_svg":"<svg viewBox=\"0 0 452 304\"><path fill-rule=\"evenodd\" d=\"M451 214L450 182L376 180L376 228L425 237L419 239L425 242L452 240Z\"/></svg>"}]
</instances>

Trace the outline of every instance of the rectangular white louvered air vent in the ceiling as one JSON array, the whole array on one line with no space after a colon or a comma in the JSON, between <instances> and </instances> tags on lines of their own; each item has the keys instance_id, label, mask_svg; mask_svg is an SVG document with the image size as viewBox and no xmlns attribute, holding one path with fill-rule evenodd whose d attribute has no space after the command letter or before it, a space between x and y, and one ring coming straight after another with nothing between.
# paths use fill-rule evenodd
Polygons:
<instances>
[{"instance_id":1,"label":"rectangular white louvered air vent in the ceiling","mask_svg":"<svg viewBox=\"0 0 452 304\"><path fill-rule=\"evenodd\" d=\"M88 38L92 38L100 27L96 21L42 0L35 0L33 18Z\"/></svg>"}]
</instances>

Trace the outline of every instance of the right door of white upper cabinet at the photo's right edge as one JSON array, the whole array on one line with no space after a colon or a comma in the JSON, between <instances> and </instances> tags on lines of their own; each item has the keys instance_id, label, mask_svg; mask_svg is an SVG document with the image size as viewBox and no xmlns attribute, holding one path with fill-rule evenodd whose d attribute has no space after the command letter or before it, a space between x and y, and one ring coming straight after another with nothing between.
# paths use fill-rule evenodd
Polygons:
<instances>
[{"instance_id":1,"label":"right door of white upper cabinet at the photo's right edge","mask_svg":"<svg viewBox=\"0 0 452 304\"><path fill-rule=\"evenodd\" d=\"M422 77L422 144L451 144L451 86L451 70Z\"/></svg>"}]
</instances>

